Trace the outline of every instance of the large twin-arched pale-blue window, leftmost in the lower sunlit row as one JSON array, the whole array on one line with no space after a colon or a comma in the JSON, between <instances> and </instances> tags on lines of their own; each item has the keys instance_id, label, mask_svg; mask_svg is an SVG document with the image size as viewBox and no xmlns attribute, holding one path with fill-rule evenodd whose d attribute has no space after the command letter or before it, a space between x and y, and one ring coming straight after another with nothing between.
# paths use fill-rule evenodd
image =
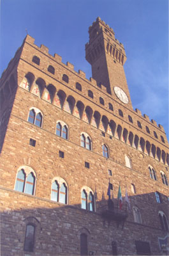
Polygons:
<instances>
[{"instance_id":1,"label":"large twin-arched pale-blue window, leftmost in the lower sunlit row","mask_svg":"<svg viewBox=\"0 0 169 256\"><path fill-rule=\"evenodd\" d=\"M31 172L32 168L26 166L26 170L21 168L17 173L17 180L15 182L15 190L29 195L34 195L35 190L35 175Z\"/></svg>"}]
</instances>

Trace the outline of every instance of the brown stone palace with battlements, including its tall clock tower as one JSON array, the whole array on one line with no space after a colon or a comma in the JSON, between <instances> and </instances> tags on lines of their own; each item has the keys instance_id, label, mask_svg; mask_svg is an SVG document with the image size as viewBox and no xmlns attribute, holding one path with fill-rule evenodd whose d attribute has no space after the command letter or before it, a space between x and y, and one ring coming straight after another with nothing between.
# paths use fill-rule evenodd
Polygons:
<instances>
[{"instance_id":1,"label":"brown stone palace with battlements, including its tall clock tower","mask_svg":"<svg viewBox=\"0 0 169 256\"><path fill-rule=\"evenodd\" d=\"M90 80L27 35L2 74L1 255L168 254L163 126L133 110L99 18L85 51Z\"/></svg>"}]
</instances>

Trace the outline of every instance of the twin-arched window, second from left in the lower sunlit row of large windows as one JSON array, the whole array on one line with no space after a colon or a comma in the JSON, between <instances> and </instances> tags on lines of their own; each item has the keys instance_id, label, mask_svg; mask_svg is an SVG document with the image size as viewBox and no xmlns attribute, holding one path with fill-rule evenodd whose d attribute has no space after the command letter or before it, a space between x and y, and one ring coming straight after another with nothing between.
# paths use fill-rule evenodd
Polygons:
<instances>
[{"instance_id":1,"label":"twin-arched window, second from left in the lower sunlit row of large windows","mask_svg":"<svg viewBox=\"0 0 169 256\"><path fill-rule=\"evenodd\" d=\"M52 182L51 200L61 204L67 204L68 186L64 179L57 177Z\"/></svg>"}]
</instances>

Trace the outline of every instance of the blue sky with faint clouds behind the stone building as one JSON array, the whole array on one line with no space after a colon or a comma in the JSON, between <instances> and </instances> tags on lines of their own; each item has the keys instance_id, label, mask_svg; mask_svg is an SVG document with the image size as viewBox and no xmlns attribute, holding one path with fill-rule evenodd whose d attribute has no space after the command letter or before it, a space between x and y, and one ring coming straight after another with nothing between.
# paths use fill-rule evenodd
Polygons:
<instances>
[{"instance_id":1,"label":"blue sky with faint clouds behind the stone building","mask_svg":"<svg viewBox=\"0 0 169 256\"><path fill-rule=\"evenodd\" d=\"M101 17L124 44L133 109L168 136L168 0L1 0L1 73L26 36L91 77L88 28ZM1 76L0 73L0 76Z\"/></svg>"}]
</instances>

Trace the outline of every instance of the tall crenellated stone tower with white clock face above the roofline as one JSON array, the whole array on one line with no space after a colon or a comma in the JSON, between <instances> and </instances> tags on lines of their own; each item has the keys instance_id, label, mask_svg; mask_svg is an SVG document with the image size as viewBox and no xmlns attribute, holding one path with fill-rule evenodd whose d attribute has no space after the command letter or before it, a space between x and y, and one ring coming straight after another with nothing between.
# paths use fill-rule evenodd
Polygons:
<instances>
[{"instance_id":1,"label":"tall crenellated stone tower with white clock face above the roofline","mask_svg":"<svg viewBox=\"0 0 169 256\"><path fill-rule=\"evenodd\" d=\"M105 86L113 99L133 109L123 68L124 46L115 38L114 30L99 17L89 27L85 58L92 66L92 78L98 86Z\"/></svg>"}]
</instances>

